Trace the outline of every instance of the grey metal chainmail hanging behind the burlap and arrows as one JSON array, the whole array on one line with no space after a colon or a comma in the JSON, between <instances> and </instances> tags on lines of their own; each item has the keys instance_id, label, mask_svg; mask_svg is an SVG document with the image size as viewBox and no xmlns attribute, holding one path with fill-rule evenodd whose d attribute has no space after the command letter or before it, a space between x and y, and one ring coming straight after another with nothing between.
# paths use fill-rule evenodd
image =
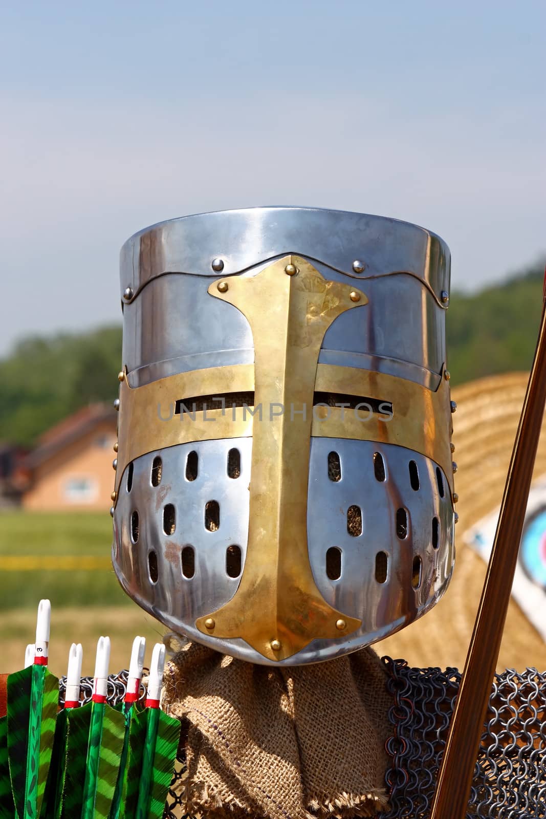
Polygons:
<instances>
[{"instance_id":1,"label":"grey metal chainmail hanging behind the burlap and arrows","mask_svg":"<svg viewBox=\"0 0 546 819\"><path fill-rule=\"evenodd\" d=\"M461 674L456 668L411 668L388 657L383 662L394 701L386 744L391 808L377 819L426 819ZM123 699L127 674L109 677L111 704ZM91 699L92 678L82 680L82 690L85 701ZM163 819L194 819L183 814L178 785L185 773L181 742ZM477 817L546 819L546 672L509 668L494 677L467 810L467 819Z\"/></svg>"}]
</instances>

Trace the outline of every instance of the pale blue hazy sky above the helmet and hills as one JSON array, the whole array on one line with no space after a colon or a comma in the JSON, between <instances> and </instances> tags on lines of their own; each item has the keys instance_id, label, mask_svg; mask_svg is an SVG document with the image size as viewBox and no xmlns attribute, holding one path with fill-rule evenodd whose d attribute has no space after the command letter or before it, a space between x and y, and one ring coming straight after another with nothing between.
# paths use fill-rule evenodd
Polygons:
<instances>
[{"instance_id":1,"label":"pale blue hazy sky above the helmet and hills","mask_svg":"<svg viewBox=\"0 0 546 819\"><path fill-rule=\"evenodd\" d=\"M440 233L475 288L546 254L543 2L0 0L0 355L120 320L121 244L316 205Z\"/></svg>"}]
</instances>

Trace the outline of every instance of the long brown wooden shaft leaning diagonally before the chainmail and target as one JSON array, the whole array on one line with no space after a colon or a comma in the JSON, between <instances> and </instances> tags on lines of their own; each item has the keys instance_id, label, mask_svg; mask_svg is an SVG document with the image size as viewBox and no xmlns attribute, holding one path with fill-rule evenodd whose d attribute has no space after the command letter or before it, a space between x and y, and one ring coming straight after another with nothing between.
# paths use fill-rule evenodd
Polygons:
<instances>
[{"instance_id":1,"label":"long brown wooden shaft leaning diagonally before the chainmail and target","mask_svg":"<svg viewBox=\"0 0 546 819\"><path fill-rule=\"evenodd\" d=\"M545 280L546 287L546 280ZM431 819L465 819L499 658L546 401L546 301L480 607L436 785ZM479 491L479 487L476 487Z\"/></svg>"}]
</instances>

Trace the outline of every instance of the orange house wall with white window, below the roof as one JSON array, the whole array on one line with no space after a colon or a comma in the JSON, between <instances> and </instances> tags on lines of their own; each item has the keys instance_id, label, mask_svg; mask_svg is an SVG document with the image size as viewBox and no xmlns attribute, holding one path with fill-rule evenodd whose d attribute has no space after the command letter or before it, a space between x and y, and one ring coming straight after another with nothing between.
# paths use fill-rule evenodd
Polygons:
<instances>
[{"instance_id":1,"label":"orange house wall with white window, below the roof","mask_svg":"<svg viewBox=\"0 0 546 819\"><path fill-rule=\"evenodd\" d=\"M107 511L114 488L115 423L97 423L34 470L34 482L23 496L25 509Z\"/></svg>"}]
</instances>

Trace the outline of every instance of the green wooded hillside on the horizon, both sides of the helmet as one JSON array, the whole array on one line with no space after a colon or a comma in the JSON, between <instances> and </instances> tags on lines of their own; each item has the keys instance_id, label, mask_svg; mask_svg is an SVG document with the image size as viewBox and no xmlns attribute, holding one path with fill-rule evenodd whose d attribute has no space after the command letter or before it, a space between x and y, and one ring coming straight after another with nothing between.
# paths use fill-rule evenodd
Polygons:
<instances>
[{"instance_id":1,"label":"green wooded hillside on the horizon, both sides of the helmet","mask_svg":"<svg viewBox=\"0 0 546 819\"><path fill-rule=\"evenodd\" d=\"M447 314L452 383L529 369L539 326L544 265L468 295L453 292ZM0 360L0 441L32 444L80 406L114 400L119 326L29 337Z\"/></svg>"}]
</instances>

